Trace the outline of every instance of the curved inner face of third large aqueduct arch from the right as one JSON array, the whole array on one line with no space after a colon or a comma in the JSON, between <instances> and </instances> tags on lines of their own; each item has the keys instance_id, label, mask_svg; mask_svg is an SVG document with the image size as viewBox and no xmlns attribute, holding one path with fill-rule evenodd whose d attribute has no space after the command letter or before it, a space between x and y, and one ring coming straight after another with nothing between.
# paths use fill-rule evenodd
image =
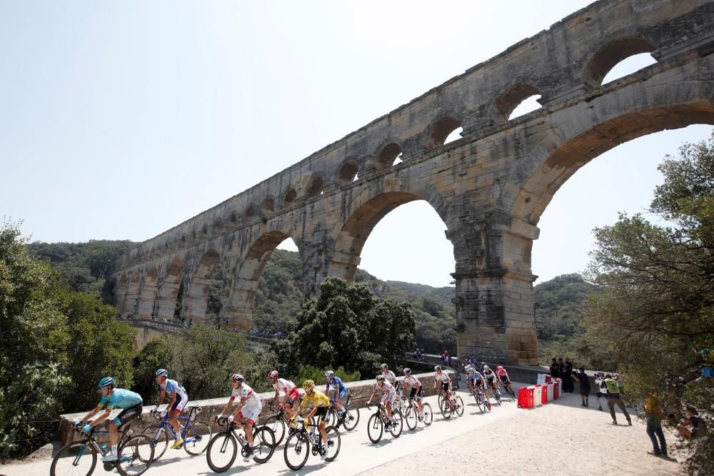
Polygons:
<instances>
[{"instance_id":1,"label":"curved inner face of third large aqueduct arch from the right","mask_svg":"<svg viewBox=\"0 0 714 476\"><path fill-rule=\"evenodd\" d=\"M268 231L253 241L238 265L228 303L221 308L221 322L230 327L251 328L258 280L273 251L284 240L292 238L286 231ZM293 238L296 244L298 241ZM299 249L299 244L298 244Z\"/></svg>"}]
</instances>

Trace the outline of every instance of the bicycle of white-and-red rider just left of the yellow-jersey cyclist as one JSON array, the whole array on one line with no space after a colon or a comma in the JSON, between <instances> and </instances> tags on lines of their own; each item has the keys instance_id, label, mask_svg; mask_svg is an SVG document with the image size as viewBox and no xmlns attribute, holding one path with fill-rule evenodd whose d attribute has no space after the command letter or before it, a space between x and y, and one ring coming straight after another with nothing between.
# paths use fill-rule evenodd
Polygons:
<instances>
[{"instance_id":1,"label":"bicycle of white-and-red rider just left of the yellow-jersey cyclist","mask_svg":"<svg viewBox=\"0 0 714 476\"><path fill-rule=\"evenodd\" d=\"M227 422L227 418L221 418L218 420L218 425L223 426ZM276 447L273 430L266 425L253 427L253 447L251 448L242 432L238 432L236 435L236 430L242 428L243 425L231 422L226 430L216 433L211 438L211 442L206 448L206 461L213 472L224 472L233 465L238 455L238 444L241 445L241 456L246 457L252 454L253 461L257 463L267 462L273 456Z\"/></svg>"}]
</instances>

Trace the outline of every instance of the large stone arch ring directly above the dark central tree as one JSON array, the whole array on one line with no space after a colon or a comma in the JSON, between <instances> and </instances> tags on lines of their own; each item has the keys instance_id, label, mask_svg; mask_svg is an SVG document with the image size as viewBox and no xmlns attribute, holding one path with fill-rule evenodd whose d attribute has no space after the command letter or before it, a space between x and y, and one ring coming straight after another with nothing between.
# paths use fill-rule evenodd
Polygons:
<instances>
[{"instance_id":1,"label":"large stone arch ring directly above the dark central tree","mask_svg":"<svg viewBox=\"0 0 714 476\"><path fill-rule=\"evenodd\" d=\"M399 186L395 186L376 195L363 193L356 197L353 207L343 213L331 232L334 245L330 253L328 275L353 280L362 248L377 223L398 206L417 200L429 203L448 230L458 227L458 222L452 221L448 215L446 201L430 186L420 183L413 190L400 190ZM456 243L453 244L456 248Z\"/></svg>"}]
</instances>

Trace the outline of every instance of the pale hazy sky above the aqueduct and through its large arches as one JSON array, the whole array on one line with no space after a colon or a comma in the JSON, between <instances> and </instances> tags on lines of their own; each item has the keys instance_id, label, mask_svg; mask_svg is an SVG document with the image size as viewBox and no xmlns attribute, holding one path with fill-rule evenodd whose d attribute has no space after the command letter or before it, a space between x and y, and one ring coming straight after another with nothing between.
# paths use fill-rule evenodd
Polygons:
<instances>
[{"instance_id":1,"label":"pale hazy sky above the aqueduct and through its large arches","mask_svg":"<svg viewBox=\"0 0 714 476\"><path fill-rule=\"evenodd\" d=\"M0 2L0 215L34 240L146 240L588 3ZM582 270L592 228L643 211L663 156L710 133L640 138L578 171L539 223L533 273ZM444 228L401 206L361 267L444 285Z\"/></svg>"}]
</instances>

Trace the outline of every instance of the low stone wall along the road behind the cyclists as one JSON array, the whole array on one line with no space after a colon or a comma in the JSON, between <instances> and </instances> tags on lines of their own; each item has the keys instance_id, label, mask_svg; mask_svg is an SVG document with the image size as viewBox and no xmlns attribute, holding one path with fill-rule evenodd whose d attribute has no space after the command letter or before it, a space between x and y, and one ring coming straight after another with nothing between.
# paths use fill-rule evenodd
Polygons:
<instances>
[{"instance_id":1,"label":"low stone wall along the road behind the cyclists","mask_svg":"<svg viewBox=\"0 0 714 476\"><path fill-rule=\"evenodd\" d=\"M454 380L455 375L453 371L449 370L448 373L451 375L451 380ZM434 385L434 374L432 373L423 373L423 374L418 374L415 375L420 381L421 385L423 386L423 395L424 396L430 396L434 395L435 391L433 390L433 385ZM399 382L403 380L403 377L397 378ZM297 385L300 385L301 383L296 383ZM374 390L374 385L375 385L375 380L359 380L357 382L346 382L345 385L348 388L348 394L352 395L352 403L357 405L358 407L362 408L365 406L366 402L368 401L368 398L372 395L372 391ZM324 386L323 385L318 385L318 389L323 390ZM226 388L226 395L231 393L230 388ZM303 391L301 390L301 394ZM271 412L270 407L268 405L268 402L270 402L273 399L273 396L275 395L274 392L268 392L268 393L261 393L258 396L261 397L261 400L263 400L263 411L261 412L260 416L260 421L264 422L265 420L268 419L268 417L271 417L274 415L274 412ZM375 397L375 401L377 401L377 397ZM210 400L189 400L187 407L191 406L199 406L201 407L201 413L198 414L197 420L203 420L205 422L208 422L209 425L213 428L215 431L220 427L216 423L216 420L213 418L215 415L218 415L218 412L223 410L223 407L226 406L226 403L228 402L228 397L221 397L221 398L211 398ZM162 408L164 408L164 405L161 405ZM154 410L156 408L154 405L146 405L144 407L144 412L142 412L141 418L139 421L134 420L134 422L131 422L131 428L134 430L134 432L140 432L141 430L144 430L144 428L148 427L149 425L154 425L158 423L154 418L152 418L149 415L149 412L151 410ZM233 409L235 409L235 406L233 406ZM87 410L89 411L89 410ZM114 410L114 412L111 413L111 418L115 417L116 415L119 415L119 412L121 410ZM81 412L81 413L69 413L66 415L60 415L59 419L59 439L62 441L63 444L76 440L77 439L77 434L72 432L71 425L74 420L78 420L81 417L84 417L87 412ZM101 414L101 413L100 413ZM364 416L364 415L363 415ZM97 437L97 440L102 442L108 440L108 435L99 435Z\"/></svg>"}]
</instances>

